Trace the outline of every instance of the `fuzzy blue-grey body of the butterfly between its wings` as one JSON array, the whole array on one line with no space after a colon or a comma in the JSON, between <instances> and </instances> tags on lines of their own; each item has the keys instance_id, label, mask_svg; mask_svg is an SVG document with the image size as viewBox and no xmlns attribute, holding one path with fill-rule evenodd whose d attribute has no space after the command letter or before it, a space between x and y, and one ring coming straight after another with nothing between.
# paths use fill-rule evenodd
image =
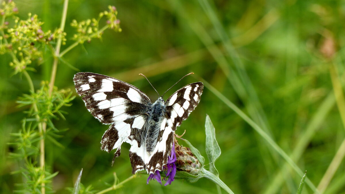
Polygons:
<instances>
[{"instance_id":1,"label":"fuzzy blue-grey body of the butterfly between its wings","mask_svg":"<svg viewBox=\"0 0 345 194\"><path fill-rule=\"evenodd\" d=\"M159 97L158 100L155 101L149 107L149 118L148 118L148 126L147 126L147 133L145 137L145 147L148 153L152 152L157 144L157 137L159 134L159 129L161 126L162 118L164 118L165 114L165 104L162 97Z\"/></svg>"}]
</instances>

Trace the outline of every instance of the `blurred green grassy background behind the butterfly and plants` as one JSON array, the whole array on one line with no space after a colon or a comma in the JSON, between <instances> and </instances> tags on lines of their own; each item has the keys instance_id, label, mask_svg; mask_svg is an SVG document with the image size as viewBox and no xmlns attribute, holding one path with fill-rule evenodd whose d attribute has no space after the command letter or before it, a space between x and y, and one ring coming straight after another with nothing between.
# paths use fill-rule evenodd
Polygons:
<instances>
[{"instance_id":1,"label":"blurred green grassy background behind the butterfly and plants","mask_svg":"<svg viewBox=\"0 0 345 194\"><path fill-rule=\"evenodd\" d=\"M60 26L62 0L16 0L19 14L38 14L44 30ZM146 75L162 94L205 79L243 110L290 156L318 187L323 177L326 193L345 193L344 138L344 0L70 0L65 31L67 48L73 41L70 23L97 17L108 5L116 6L122 32L106 30L102 40L78 46L64 59L80 71L115 77L137 86L152 100L156 93L139 73ZM103 23L105 21L102 21ZM102 23L101 22L101 23ZM101 25L102 26L102 25ZM12 76L9 55L0 66L0 192L12 193L23 177L11 175L19 162L8 157L13 147L10 133L18 132L25 108L18 96L29 93L26 80ZM53 59L34 65L30 72L35 88L49 80ZM55 85L74 90L77 71L60 63ZM335 98L337 96L337 100ZM111 167L113 152L100 150L108 128L93 118L80 97L72 101L66 120L55 120L60 148L46 141L46 165L59 171L52 187L68 193L83 168L81 183L103 190L131 175L128 144ZM216 162L219 177L234 193L296 193L301 176L219 96L205 87L200 104L176 133L205 153L205 116L215 125L222 154ZM343 118L343 119L342 119ZM338 154L337 154L338 153ZM336 160L332 163L332 160ZM334 174L327 168L335 168ZM327 171L327 173L326 173ZM282 172L284 172L282 174ZM161 186L146 185L148 175L126 183L113 193L216 193L217 187L202 178L196 183L176 180ZM329 177L330 176L330 177ZM110 192L111 193L111 192ZM223 190L222 193L225 193ZM303 193L313 193L305 184Z\"/></svg>"}]
</instances>

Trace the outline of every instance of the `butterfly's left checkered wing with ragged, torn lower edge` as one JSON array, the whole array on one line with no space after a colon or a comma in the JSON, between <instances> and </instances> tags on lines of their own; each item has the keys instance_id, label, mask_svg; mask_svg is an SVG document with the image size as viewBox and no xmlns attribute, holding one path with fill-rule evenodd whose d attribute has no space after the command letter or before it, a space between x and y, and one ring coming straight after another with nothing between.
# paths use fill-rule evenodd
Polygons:
<instances>
[{"instance_id":1,"label":"butterfly's left checkered wing with ragged, torn lower edge","mask_svg":"<svg viewBox=\"0 0 345 194\"><path fill-rule=\"evenodd\" d=\"M107 152L117 148L118 157L132 129L144 130L150 98L137 87L105 75L80 72L73 80L91 114L101 123L111 124L101 148Z\"/></svg>"}]
</instances>

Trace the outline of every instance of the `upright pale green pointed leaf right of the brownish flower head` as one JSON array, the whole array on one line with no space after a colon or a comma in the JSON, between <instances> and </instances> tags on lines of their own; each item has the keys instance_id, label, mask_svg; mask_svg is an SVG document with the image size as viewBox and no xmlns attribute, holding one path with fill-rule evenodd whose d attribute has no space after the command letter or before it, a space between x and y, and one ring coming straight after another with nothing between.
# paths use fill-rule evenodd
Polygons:
<instances>
[{"instance_id":1,"label":"upright pale green pointed leaf right of the brownish flower head","mask_svg":"<svg viewBox=\"0 0 345 194\"><path fill-rule=\"evenodd\" d=\"M215 161L220 156L221 151L216 140L216 129L213 126L211 119L208 115L206 115L205 132L206 132L206 154L210 162L210 172L218 176L219 173L215 167Z\"/></svg>"}]
</instances>

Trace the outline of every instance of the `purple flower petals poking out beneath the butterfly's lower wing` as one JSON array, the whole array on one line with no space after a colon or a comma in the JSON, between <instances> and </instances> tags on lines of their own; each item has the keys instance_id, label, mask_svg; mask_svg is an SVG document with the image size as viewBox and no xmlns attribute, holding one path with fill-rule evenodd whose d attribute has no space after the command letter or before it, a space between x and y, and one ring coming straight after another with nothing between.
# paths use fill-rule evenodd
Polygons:
<instances>
[{"instance_id":1,"label":"purple flower petals poking out beneath the butterfly's lower wing","mask_svg":"<svg viewBox=\"0 0 345 194\"><path fill-rule=\"evenodd\" d=\"M172 144L172 148L171 148L171 154L170 156L168 156L168 161L167 161L167 167L163 167L164 170L166 170L165 172L165 178L164 180L166 181L166 183L164 184L164 186L167 186L168 184L170 185L172 181L175 180L175 175L176 175L176 153L175 153L175 142ZM160 174L159 171L157 170L155 172L155 174L150 174L149 177L147 178L147 184L149 184L149 180L152 180L152 178L158 181L158 183L162 184L161 180L160 180Z\"/></svg>"}]
</instances>

